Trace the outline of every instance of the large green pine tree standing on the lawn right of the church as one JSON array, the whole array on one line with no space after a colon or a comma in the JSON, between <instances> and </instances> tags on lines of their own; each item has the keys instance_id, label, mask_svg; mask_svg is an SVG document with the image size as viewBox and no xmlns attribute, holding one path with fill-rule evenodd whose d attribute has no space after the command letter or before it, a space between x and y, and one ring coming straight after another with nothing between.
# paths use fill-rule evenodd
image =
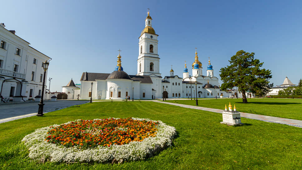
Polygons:
<instances>
[{"instance_id":1,"label":"large green pine tree standing on the lawn right of the church","mask_svg":"<svg viewBox=\"0 0 302 170\"><path fill-rule=\"evenodd\" d=\"M273 83L271 71L261 69L263 63L254 58L255 53L246 53L240 50L229 60L229 66L220 69L220 77L223 81L222 90L238 87L242 92L242 102L247 103L246 92L263 95L269 92Z\"/></svg>"}]
</instances>

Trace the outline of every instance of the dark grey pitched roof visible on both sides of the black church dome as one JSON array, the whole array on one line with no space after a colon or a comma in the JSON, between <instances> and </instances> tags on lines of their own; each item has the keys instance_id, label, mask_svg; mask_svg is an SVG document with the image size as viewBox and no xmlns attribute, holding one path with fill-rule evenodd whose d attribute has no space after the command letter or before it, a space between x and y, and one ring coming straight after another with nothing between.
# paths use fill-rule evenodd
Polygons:
<instances>
[{"instance_id":1,"label":"dark grey pitched roof visible on both sides of the black church dome","mask_svg":"<svg viewBox=\"0 0 302 170\"><path fill-rule=\"evenodd\" d=\"M106 80L110 73L87 73L84 72L80 81L95 81L95 80ZM129 75L131 80L140 81L141 83L153 83L150 76L137 76Z\"/></svg>"}]
</instances>

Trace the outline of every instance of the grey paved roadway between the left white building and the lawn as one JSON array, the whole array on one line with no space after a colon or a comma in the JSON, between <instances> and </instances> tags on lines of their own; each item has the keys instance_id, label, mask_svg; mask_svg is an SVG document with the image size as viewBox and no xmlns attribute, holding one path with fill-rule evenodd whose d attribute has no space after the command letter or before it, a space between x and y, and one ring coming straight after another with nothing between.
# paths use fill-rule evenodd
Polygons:
<instances>
[{"instance_id":1,"label":"grey paved roadway between the left white building and the lawn","mask_svg":"<svg viewBox=\"0 0 302 170\"><path fill-rule=\"evenodd\" d=\"M58 100L56 102L44 102L44 112L67 108L74 105L88 103L88 100ZM0 105L0 123L26 118L36 115L38 112L38 102L33 103L13 103Z\"/></svg>"}]
</instances>

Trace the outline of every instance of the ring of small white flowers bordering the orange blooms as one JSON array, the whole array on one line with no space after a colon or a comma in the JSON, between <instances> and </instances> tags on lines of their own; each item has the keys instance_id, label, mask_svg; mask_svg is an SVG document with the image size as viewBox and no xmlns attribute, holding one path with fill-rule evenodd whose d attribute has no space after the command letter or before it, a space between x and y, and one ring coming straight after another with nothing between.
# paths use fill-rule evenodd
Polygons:
<instances>
[{"instance_id":1,"label":"ring of small white flowers bordering the orange blooms","mask_svg":"<svg viewBox=\"0 0 302 170\"><path fill-rule=\"evenodd\" d=\"M140 121L153 121L150 119L132 118ZM96 120L96 119L94 119ZM76 120L80 121L80 120ZM75 122L76 122L75 121ZM156 122L156 121L153 121ZM64 124L68 124L67 122ZM49 127L39 128L35 132L26 135L22 141L29 148L29 157L33 160L49 160L51 162L110 162L144 160L160 150L171 146L172 139L176 135L176 129L158 121L155 137L145 138L142 142L132 141L124 145L111 145L110 147L97 146L95 148L79 149L77 147L66 148L64 146L46 142ZM60 125L52 125L57 127Z\"/></svg>"}]
</instances>

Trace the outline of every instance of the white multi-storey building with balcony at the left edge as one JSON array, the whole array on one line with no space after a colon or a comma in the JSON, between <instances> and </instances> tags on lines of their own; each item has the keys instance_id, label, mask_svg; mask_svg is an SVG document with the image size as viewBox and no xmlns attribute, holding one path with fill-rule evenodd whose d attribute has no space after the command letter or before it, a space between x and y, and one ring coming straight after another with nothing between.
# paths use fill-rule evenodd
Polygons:
<instances>
[{"instance_id":1,"label":"white multi-storey building with balcony at the left edge","mask_svg":"<svg viewBox=\"0 0 302 170\"><path fill-rule=\"evenodd\" d=\"M0 42L1 102L26 101L41 95L42 62L51 58L30 47L14 30L7 30L4 23L0 24Z\"/></svg>"}]
</instances>

